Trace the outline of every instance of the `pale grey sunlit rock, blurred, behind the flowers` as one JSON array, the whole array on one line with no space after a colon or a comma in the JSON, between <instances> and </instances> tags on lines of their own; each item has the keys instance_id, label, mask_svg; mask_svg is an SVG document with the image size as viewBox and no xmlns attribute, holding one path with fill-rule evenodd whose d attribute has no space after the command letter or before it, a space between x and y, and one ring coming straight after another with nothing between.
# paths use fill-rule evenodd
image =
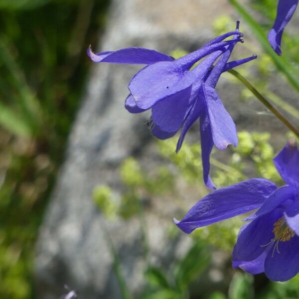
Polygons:
<instances>
[{"instance_id":1,"label":"pale grey sunlit rock, blurred, behind the flowers","mask_svg":"<svg viewBox=\"0 0 299 299\"><path fill-rule=\"evenodd\" d=\"M105 51L143 46L165 53L176 48L194 50L213 37L214 18L232 13L226 0L113 0L107 32L94 48ZM131 291L138 294L142 289L145 264L139 220L108 223L91 199L98 184L108 184L121 192L118 166L128 155L147 155L148 161L154 160L147 149L153 139L145 124L147 115L131 115L124 109L127 85L137 69L104 63L92 66L66 160L40 229L36 248L40 299L58 298L64 284L77 290L81 299L121 298L105 229L113 238ZM237 126L256 128L259 121L258 126L265 129L267 121L263 123L254 113L263 111L262 106L252 102L245 110L235 96L236 87L225 80L218 90ZM272 120L271 126L281 129ZM156 202L155 209L145 215L150 259L166 266L190 243L183 234L172 242L168 240L167 228L175 211L176 206L168 200Z\"/></svg>"}]
</instances>

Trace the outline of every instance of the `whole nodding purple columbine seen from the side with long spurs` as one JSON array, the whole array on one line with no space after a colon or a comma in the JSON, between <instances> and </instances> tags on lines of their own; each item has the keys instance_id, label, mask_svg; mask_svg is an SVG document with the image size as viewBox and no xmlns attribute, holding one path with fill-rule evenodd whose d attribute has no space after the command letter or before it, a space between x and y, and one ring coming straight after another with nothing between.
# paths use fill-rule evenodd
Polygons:
<instances>
[{"instance_id":1,"label":"whole nodding purple columbine seen from the side with long spurs","mask_svg":"<svg viewBox=\"0 0 299 299\"><path fill-rule=\"evenodd\" d=\"M232 40L223 41L234 35ZM201 117L204 181L215 188L209 176L209 156L213 145L226 149L237 146L233 120L214 90L222 72L248 62L256 56L227 63L234 45L243 41L239 22L233 32L216 37L199 50L179 59L144 48L126 48L115 52L87 53L95 62L147 64L129 83L130 95L125 102L131 113L151 108L149 128L158 139L167 139L182 128L176 151L181 148L186 132ZM213 70L211 70L215 61ZM204 58L192 70L190 68Z\"/></svg>"}]
</instances>

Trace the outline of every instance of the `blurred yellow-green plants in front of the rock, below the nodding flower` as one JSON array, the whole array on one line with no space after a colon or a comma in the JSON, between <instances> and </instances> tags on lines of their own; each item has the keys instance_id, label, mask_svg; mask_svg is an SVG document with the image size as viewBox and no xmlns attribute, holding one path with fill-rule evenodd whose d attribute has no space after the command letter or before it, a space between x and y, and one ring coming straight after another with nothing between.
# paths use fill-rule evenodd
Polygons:
<instances>
[{"instance_id":1,"label":"blurred yellow-green plants in front of the rock, below the nodding flower","mask_svg":"<svg viewBox=\"0 0 299 299\"><path fill-rule=\"evenodd\" d=\"M284 182L278 175L272 158L275 150L270 144L271 135L269 133L249 133L242 131L238 134L239 146L231 149L228 154L230 158L226 164L219 162L212 152L212 173L214 181L218 186L226 186L239 182L247 177L242 174L247 168L255 169L256 177L266 177L278 185ZM286 140L293 136L288 134ZM152 200L156 197L170 196L177 206L181 209L183 216L188 208L183 203L178 181L183 181L186 190L192 190L198 195L198 198L206 192L202 183L202 167L200 158L200 145L189 145L184 143L179 154L173 151L176 138L167 141L157 142L157 150L165 163L162 167L163 179L159 177L161 166L151 169L151 173L133 157L128 157L120 166L120 179L125 187L121 197L118 198L116 193L109 186L101 185L94 189L93 198L100 211L110 221L117 218L125 220L131 217L139 217L141 221L140 234L145 240L144 246L147 246L147 228L144 224L144 211L146 204L144 198ZM188 194L186 194L188 196ZM244 216L235 217L221 223L216 223L208 227L202 227L195 230L190 238L192 245L185 256L175 261L170 269L151 265L147 261L147 248L145 248L145 261L147 268L144 277L147 286L144 294L140 298L146 299L188 299L193 298L195 294L190 293L190 286L200 279L201 274L210 265L211 247L220 249L230 254L235 244L237 233L244 224ZM174 238L180 231L173 223L169 223L169 238ZM113 236L109 236L113 240ZM117 277L120 281L122 290L126 291L124 298L132 298L128 295L128 287L124 287L125 279L121 273L121 265L115 251L112 256L117 264ZM298 276L286 283L271 283L265 276L260 276L264 284L258 286L253 276L241 271L236 271L232 278L227 293L213 292L209 290L204 294L206 299L263 299L273 298L295 299L299 294L299 288L296 286ZM190 297L191 296L191 297ZM196 297L195 297L196 298Z\"/></svg>"}]
</instances>

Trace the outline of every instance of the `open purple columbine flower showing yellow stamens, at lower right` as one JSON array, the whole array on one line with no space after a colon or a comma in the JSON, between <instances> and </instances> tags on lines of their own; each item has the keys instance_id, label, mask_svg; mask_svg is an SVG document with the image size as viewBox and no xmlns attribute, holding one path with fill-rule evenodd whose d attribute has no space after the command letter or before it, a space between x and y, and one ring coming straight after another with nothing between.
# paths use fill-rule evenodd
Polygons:
<instances>
[{"instance_id":1,"label":"open purple columbine flower showing yellow stamens, at lower right","mask_svg":"<svg viewBox=\"0 0 299 299\"><path fill-rule=\"evenodd\" d=\"M274 164L288 185L277 188L266 179L248 179L210 193L181 221L174 221L191 233L259 208L239 232L233 267L286 281L299 272L299 150L295 139L274 158Z\"/></svg>"}]
</instances>

